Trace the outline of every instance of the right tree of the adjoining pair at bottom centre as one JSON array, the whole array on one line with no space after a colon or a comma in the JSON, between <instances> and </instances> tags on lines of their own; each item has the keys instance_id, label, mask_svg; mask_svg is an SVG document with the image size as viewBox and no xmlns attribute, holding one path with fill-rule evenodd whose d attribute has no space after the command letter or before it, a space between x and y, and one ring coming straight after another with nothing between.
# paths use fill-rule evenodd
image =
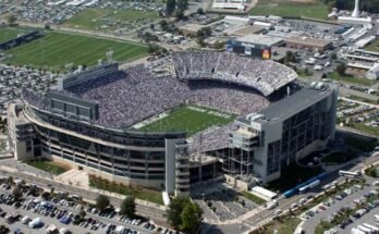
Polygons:
<instances>
[{"instance_id":1,"label":"right tree of the adjoining pair at bottom centre","mask_svg":"<svg viewBox=\"0 0 379 234\"><path fill-rule=\"evenodd\" d=\"M201 220L203 220L203 210L197 204L187 202L181 212L181 230L188 233L199 233Z\"/></svg>"}]
</instances>

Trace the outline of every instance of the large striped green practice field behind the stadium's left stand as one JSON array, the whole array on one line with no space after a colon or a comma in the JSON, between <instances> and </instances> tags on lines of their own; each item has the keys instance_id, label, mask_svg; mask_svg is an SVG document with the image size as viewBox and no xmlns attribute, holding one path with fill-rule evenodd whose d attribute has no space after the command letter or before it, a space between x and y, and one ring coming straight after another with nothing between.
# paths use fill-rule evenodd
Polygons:
<instances>
[{"instance_id":1,"label":"large striped green practice field behind the stadium's left stand","mask_svg":"<svg viewBox=\"0 0 379 234\"><path fill-rule=\"evenodd\" d=\"M94 65L113 51L113 60L130 61L148 53L147 46L89 36L50 33L42 38L8 50L7 63L62 71L64 65Z\"/></svg>"}]
</instances>

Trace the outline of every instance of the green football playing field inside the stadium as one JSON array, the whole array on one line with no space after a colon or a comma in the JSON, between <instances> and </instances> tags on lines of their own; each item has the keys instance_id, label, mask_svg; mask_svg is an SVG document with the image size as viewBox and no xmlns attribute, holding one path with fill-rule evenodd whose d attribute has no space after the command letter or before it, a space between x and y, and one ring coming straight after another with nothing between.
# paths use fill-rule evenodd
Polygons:
<instances>
[{"instance_id":1,"label":"green football playing field inside the stadium","mask_svg":"<svg viewBox=\"0 0 379 234\"><path fill-rule=\"evenodd\" d=\"M210 126L225 125L232 122L235 116L235 114L205 107L182 106L139 130L147 132L185 131L187 136L191 136Z\"/></svg>"}]
</instances>

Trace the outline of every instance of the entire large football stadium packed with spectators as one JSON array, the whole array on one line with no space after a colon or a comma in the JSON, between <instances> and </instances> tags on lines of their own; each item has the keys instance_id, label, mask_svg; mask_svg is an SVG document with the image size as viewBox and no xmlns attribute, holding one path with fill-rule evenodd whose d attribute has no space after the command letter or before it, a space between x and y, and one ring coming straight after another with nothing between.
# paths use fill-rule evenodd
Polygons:
<instances>
[{"instance_id":1,"label":"entire large football stadium packed with spectators","mask_svg":"<svg viewBox=\"0 0 379 234\"><path fill-rule=\"evenodd\" d=\"M293 70L229 52L172 52L171 61L172 76L157 78L144 65L120 71L110 62L64 76L48 94L24 89L23 102L8 114L15 158L50 158L118 183L187 194L224 174L264 183L280 176L280 152L269 137L281 131L270 123L265 137L267 126L254 124L269 122L265 110L276 123L310 114L317 125L301 131L322 128L281 163L333 137L327 119L335 114L337 91L329 86L298 90ZM293 99L299 103L292 113L276 118L270 111Z\"/></svg>"}]
</instances>

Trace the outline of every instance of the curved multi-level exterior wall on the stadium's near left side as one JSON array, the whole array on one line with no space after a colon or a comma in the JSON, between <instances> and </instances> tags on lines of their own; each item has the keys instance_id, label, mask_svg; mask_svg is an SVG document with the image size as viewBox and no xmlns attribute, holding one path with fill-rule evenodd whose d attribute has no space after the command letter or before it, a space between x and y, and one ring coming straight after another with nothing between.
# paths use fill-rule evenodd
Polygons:
<instances>
[{"instance_id":1,"label":"curved multi-level exterior wall on the stadium's near left side","mask_svg":"<svg viewBox=\"0 0 379 234\"><path fill-rule=\"evenodd\" d=\"M169 159L173 159L176 163L175 143L184 141L184 133L106 131L77 121L63 121L63 119L60 121L59 114L40 111L27 103L23 112L13 119L21 115L29 121L35 136L32 140L33 149L24 153L22 160L44 157L125 185L155 189L163 189L167 185L170 188L176 186L175 181L169 181L167 184L166 164ZM72 126L69 126L70 124ZM73 131L75 127L78 128L77 125L83 125L83 130L88 132L98 131L98 135L106 133L109 135L88 136ZM15 133L20 130L12 131ZM13 149L23 144L26 141L19 140ZM35 151L40 153L33 153Z\"/></svg>"}]
</instances>

